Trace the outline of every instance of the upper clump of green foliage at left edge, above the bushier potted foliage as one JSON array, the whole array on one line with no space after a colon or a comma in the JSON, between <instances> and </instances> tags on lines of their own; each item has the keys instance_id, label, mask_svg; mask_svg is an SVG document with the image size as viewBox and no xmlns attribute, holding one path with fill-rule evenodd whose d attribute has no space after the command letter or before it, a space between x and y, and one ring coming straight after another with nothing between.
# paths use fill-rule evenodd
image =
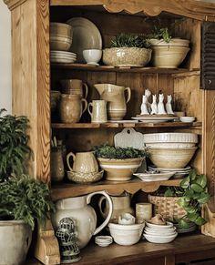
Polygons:
<instances>
[{"instance_id":1,"label":"upper clump of green foliage at left edge, above the bushier potted foliage","mask_svg":"<svg viewBox=\"0 0 215 265\"><path fill-rule=\"evenodd\" d=\"M11 174L21 175L26 169L26 160L30 158L29 137L26 134L28 119L25 116L3 116L0 110L0 182Z\"/></svg>"}]
</instances>

